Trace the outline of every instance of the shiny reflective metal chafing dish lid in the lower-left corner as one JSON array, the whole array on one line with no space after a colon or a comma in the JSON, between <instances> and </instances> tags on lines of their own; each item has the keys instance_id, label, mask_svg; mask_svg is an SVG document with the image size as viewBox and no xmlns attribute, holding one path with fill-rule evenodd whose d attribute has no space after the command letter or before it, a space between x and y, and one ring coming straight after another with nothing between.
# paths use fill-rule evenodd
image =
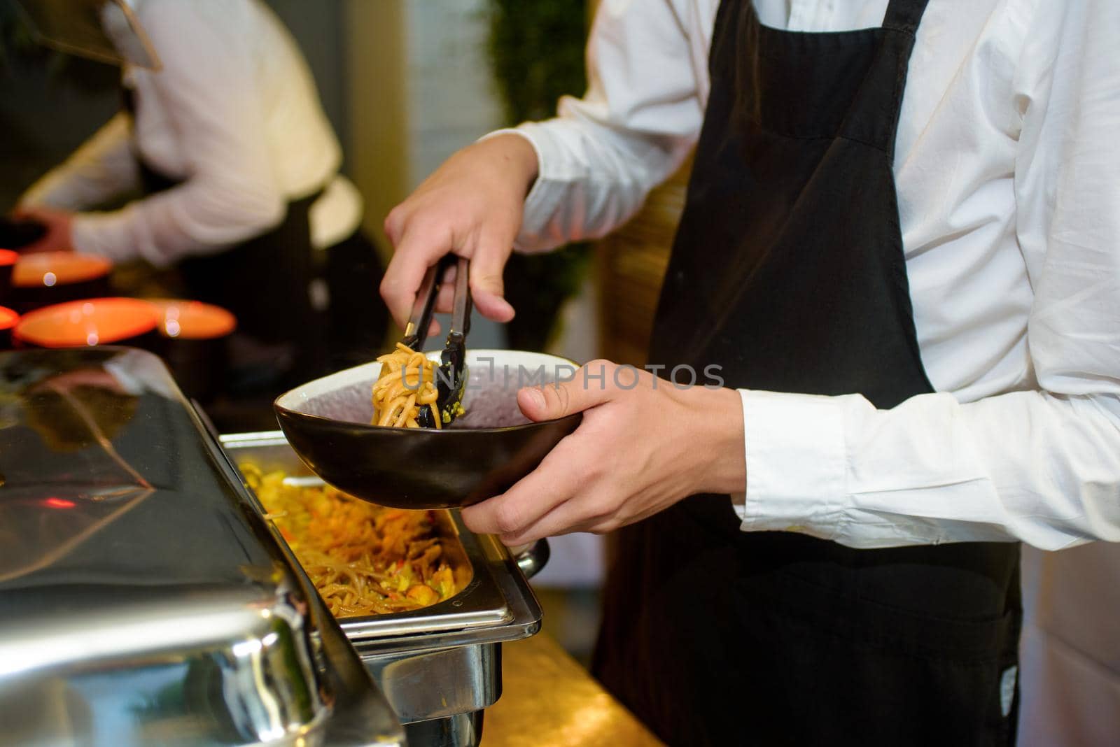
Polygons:
<instances>
[{"instance_id":1,"label":"shiny reflective metal chafing dish lid in the lower-left corner","mask_svg":"<svg viewBox=\"0 0 1120 747\"><path fill-rule=\"evenodd\" d=\"M0 744L400 744L158 358L0 353Z\"/></svg>"}]
</instances>

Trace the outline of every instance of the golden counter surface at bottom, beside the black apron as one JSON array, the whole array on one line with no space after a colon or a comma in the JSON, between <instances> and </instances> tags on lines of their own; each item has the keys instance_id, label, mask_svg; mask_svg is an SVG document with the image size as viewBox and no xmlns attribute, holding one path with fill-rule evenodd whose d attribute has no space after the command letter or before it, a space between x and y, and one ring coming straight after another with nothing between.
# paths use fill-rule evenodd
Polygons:
<instances>
[{"instance_id":1,"label":"golden counter surface at bottom, beside the black apron","mask_svg":"<svg viewBox=\"0 0 1120 747\"><path fill-rule=\"evenodd\" d=\"M502 647L502 680L482 747L662 744L545 633Z\"/></svg>"}]
</instances>

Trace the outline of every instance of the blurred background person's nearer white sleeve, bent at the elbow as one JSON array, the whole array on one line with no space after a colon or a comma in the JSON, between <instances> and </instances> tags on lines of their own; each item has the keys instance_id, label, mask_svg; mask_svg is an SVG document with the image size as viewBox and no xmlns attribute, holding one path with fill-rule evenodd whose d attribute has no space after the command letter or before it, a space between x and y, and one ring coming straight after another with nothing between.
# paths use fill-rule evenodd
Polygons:
<instances>
[{"instance_id":1,"label":"blurred background person's nearer white sleeve, bent at the elbow","mask_svg":"<svg viewBox=\"0 0 1120 747\"><path fill-rule=\"evenodd\" d=\"M166 265L220 252L282 220L287 205L264 136L255 85L261 63L248 18L244 3L224 0L144 3L141 21L164 69L150 74L141 93L160 98L188 174L122 210L78 215L77 252ZM142 116L142 98L139 105Z\"/></svg>"}]
</instances>

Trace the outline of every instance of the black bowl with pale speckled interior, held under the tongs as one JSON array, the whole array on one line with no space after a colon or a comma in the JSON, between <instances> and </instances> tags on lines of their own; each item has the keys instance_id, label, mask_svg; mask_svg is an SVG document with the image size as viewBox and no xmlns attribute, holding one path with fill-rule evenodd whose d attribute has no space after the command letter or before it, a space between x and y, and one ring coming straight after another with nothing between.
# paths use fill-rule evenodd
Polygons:
<instances>
[{"instance_id":1,"label":"black bowl with pale speckled interior, held under the tongs","mask_svg":"<svg viewBox=\"0 0 1120 747\"><path fill-rule=\"evenodd\" d=\"M376 362L281 395L277 417L307 466L343 492L400 509L470 505L532 472L582 415L531 423L517 408L517 389L571 377L576 366L569 360L470 350L467 366L467 412L442 431L368 425Z\"/></svg>"}]
</instances>

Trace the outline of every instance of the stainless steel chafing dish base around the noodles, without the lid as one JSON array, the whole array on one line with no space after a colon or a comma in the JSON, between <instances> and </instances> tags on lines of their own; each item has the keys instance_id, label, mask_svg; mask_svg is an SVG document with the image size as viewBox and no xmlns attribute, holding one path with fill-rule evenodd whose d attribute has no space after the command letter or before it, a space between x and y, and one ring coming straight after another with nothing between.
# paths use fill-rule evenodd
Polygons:
<instances>
[{"instance_id":1,"label":"stainless steel chafing dish base around the noodles, without the lid","mask_svg":"<svg viewBox=\"0 0 1120 747\"><path fill-rule=\"evenodd\" d=\"M221 443L234 464L321 484L280 432L223 435ZM474 745L483 709L502 692L501 643L540 630L541 609L525 579L547 561L548 543L513 558L493 537L466 529L457 511L433 513L461 590L423 609L339 623L404 724L409 744Z\"/></svg>"}]
</instances>

